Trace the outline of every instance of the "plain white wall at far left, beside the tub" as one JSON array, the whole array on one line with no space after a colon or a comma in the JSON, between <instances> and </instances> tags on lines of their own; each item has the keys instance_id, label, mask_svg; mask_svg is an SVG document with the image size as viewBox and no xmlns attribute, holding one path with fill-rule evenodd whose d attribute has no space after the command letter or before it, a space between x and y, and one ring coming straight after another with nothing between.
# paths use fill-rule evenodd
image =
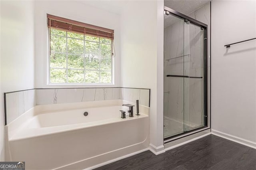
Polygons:
<instances>
[{"instance_id":1,"label":"plain white wall at far left, beside the tub","mask_svg":"<svg viewBox=\"0 0 256 170\"><path fill-rule=\"evenodd\" d=\"M1 1L1 95L34 88L34 2ZM0 101L0 160L4 159L4 111Z\"/></svg>"}]
</instances>

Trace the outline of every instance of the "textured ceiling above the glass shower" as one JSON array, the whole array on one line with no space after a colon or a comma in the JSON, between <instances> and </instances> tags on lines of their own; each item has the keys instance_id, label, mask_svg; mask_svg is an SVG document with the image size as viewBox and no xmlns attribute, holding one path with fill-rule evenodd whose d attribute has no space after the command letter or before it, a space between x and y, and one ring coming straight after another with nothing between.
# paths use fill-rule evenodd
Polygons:
<instances>
[{"instance_id":1,"label":"textured ceiling above the glass shower","mask_svg":"<svg viewBox=\"0 0 256 170\"><path fill-rule=\"evenodd\" d=\"M210 0L164 0L164 6L172 8L182 14L188 15L201 6L204 6ZM170 26L179 19L172 15L164 16L164 28Z\"/></svg>"}]
</instances>

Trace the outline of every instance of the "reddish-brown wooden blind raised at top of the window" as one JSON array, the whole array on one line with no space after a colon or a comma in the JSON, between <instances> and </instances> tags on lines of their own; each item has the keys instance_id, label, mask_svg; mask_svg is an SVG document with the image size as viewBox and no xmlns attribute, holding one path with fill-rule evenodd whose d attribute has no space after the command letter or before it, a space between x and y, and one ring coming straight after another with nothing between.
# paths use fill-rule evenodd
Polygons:
<instances>
[{"instance_id":1,"label":"reddish-brown wooden blind raised at top of the window","mask_svg":"<svg viewBox=\"0 0 256 170\"><path fill-rule=\"evenodd\" d=\"M114 30L47 14L48 28L114 40Z\"/></svg>"}]
</instances>

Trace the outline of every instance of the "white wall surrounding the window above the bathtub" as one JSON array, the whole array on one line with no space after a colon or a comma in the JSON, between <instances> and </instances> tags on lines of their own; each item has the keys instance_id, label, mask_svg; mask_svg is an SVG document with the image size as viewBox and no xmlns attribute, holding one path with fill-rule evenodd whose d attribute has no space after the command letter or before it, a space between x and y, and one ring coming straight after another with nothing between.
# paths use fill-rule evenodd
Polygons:
<instances>
[{"instance_id":1,"label":"white wall surrounding the window above the bathtub","mask_svg":"<svg viewBox=\"0 0 256 170\"><path fill-rule=\"evenodd\" d=\"M114 30L114 44L116 49L115 63L115 85L104 85L104 87L120 86L120 17L118 14L100 10L88 6L79 1L36 1L35 2L35 39L36 39L36 88L60 88L60 87L102 87L102 85L46 85L48 39L46 14L52 14L71 20L84 22Z\"/></svg>"}]
</instances>

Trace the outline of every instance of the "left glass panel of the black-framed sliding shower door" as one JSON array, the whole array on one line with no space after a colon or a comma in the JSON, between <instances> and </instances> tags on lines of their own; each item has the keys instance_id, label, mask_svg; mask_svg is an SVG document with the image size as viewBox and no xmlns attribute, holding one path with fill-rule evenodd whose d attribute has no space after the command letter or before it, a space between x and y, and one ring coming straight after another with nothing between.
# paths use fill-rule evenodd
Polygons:
<instances>
[{"instance_id":1,"label":"left glass panel of the black-framed sliding shower door","mask_svg":"<svg viewBox=\"0 0 256 170\"><path fill-rule=\"evenodd\" d=\"M165 15L164 137L184 132L184 19Z\"/></svg>"}]
</instances>

